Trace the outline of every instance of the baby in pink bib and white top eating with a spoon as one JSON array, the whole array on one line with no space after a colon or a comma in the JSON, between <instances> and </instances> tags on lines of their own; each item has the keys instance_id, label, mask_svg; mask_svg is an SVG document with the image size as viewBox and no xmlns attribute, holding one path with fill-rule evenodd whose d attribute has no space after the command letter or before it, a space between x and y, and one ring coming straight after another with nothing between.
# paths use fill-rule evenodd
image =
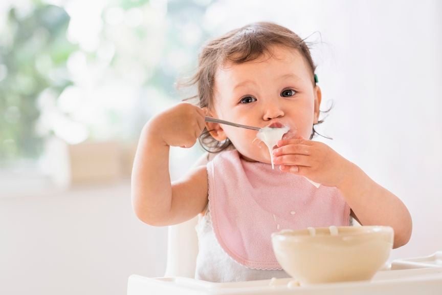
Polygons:
<instances>
[{"instance_id":1,"label":"baby in pink bib and white top eating with a spoon","mask_svg":"<svg viewBox=\"0 0 442 295\"><path fill-rule=\"evenodd\" d=\"M280 229L362 225L394 229L394 247L411 235L411 217L394 194L324 143L313 141L321 90L304 41L272 23L254 23L210 41L191 83L198 106L183 102L153 117L140 136L132 204L140 220L165 226L200 214L195 278L232 282L289 277L275 259ZM288 127L269 149L254 127ZM170 146L197 139L217 155L179 181L169 176ZM310 181L309 181L310 180ZM312 183L320 183L317 188Z\"/></svg>"}]
</instances>

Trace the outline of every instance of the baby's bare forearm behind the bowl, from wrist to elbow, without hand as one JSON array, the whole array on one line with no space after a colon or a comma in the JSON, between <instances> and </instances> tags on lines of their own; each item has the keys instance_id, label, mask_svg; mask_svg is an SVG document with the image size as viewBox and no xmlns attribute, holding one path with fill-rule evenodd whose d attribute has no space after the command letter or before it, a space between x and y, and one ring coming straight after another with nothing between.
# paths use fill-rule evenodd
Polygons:
<instances>
[{"instance_id":1,"label":"baby's bare forearm behind the bowl, from wrist to elbow, without hand","mask_svg":"<svg viewBox=\"0 0 442 295\"><path fill-rule=\"evenodd\" d=\"M393 247L405 245L411 236L412 221L404 203L353 163L347 175L338 188L361 224L391 226Z\"/></svg>"}]
</instances>

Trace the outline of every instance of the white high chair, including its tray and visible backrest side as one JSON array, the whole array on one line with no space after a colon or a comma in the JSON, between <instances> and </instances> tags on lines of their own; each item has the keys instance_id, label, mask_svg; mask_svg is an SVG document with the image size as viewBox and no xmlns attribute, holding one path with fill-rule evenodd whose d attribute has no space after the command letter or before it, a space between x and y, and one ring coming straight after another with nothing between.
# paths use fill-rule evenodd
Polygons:
<instances>
[{"instance_id":1,"label":"white high chair, including its tray and visible backrest side","mask_svg":"<svg viewBox=\"0 0 442 295\"><path fill-rule=\"evenodd\" d=\"M167 267L164 278L145 278L131 275L127 295L403 295L442 294L442 251L431 256L396 260L391 268L381 270L371 281L344 282L312 286L290 287L291 278L272 280L212 283L194 280L198 241L195 231L197 217L169 226Z\"/></svg>"}]
</instances>

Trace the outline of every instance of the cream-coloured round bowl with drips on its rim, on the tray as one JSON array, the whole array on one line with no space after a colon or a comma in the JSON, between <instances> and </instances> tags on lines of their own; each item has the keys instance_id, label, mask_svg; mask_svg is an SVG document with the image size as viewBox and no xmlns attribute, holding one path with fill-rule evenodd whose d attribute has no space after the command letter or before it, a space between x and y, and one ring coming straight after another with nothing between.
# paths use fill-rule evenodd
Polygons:
<instances>
[{"instance_id":1,"label":"cream-coloured round bowl with drips on its rim, on the tray","mask_svg":"<svg viewBox=\"0 0 442 295\"><path fill-rule=\"evenodd\" d=\"M301 284L370 280L393 247L389 226L281 230L272 245L281 267Z\"/></svg>"}]
</instances>

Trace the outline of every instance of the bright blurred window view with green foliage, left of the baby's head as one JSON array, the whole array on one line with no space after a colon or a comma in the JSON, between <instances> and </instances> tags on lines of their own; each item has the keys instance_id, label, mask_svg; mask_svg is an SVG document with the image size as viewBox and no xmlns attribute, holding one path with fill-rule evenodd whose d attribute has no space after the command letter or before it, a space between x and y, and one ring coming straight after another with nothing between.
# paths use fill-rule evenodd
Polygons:
<instances>
[{"instance_id":1,"label":"bright blurred window view with green foliage, left of the baby's head","mask_svg":"<svg viewBox=\"0 0 442 295\"><path fill-rule=\"evenodd\" d=\"M211 0L29 1L0 27L0 164L38 157L53 135L136 140L186 96L175 81L210 35Z\"/></svg>"}]
</instances>

